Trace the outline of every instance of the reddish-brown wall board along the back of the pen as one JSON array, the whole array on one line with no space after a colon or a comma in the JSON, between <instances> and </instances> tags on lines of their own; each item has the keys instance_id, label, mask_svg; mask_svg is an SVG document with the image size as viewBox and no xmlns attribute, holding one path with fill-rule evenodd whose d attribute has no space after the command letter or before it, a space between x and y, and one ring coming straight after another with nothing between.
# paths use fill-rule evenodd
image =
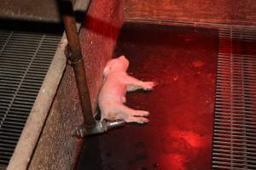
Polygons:
<instances>
[{"instance_id":1,"label":"reddish-brown wall board along the back of the pen","mask_svg":"<svg viewBox=\"0 0 256 170\"><path fill-rule=\"evenodd\" d=\"M125 20L174 20L256 26L256 1L125 0Z\"/></svg>"}]
</instances>

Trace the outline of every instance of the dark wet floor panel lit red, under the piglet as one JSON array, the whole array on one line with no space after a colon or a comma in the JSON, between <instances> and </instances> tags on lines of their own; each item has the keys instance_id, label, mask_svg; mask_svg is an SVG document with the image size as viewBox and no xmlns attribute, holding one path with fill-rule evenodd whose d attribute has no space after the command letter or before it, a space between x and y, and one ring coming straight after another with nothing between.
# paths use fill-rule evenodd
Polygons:
<instances>
[{"instance_id":1,"label":"dark wet floor panel lit red, under the piglet","mask_svg":"<svg viewBox=\"0 0 256 170\"><path fill-rule=\"evenodd\" d=\"M79 169L211 169L218 31L125 24L114 57L121 54L132 76L159 83L127 94L126 105L149 111L150 122L88 138Z\"/></svg>"}]
</instances>

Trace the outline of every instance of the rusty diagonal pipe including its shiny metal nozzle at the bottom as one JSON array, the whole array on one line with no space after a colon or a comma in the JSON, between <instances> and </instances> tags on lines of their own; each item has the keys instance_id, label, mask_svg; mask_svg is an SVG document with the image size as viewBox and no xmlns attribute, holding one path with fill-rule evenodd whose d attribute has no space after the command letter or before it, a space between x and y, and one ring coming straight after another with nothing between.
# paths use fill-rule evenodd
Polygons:
<instances>
[{"instance_id":1,"label":"rusty diagonal pipe including its shiny metal nozzle at the bottom","mask_svg":"<svg viewBox=\"0 0 256 170\"><path fill-rule=\"evenodd\" d=\"M80 105L83 112L84 123L73 131L73 136L84 138L84 136L96 133L105 133L113 127L125 125L124 121L117 120L114 122L96 122L91 109L89 88L84 69L84 58L81 52L79 34L77 31L73 5L69 0L61 0L61 18L64 23L67 36L66 55L69 64L73 66L77 88L79 90Z\"/></svg>"}]
</instances>

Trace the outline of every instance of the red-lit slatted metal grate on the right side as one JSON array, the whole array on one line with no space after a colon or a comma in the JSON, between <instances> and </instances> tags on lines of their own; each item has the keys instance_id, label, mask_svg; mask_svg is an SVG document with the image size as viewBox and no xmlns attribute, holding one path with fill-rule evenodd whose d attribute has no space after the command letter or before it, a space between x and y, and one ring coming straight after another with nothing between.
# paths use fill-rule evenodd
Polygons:
<instances>
[{"instance_id":1,"label":"red-lit slatted metal grate on the right side","mask_svg":"<svg viewBox=\"0 0 256 170\"><path fill-rule=\"evenodd\" d=\"M256 169L256 29L219 29L212 169Z\"/></svg>"}]
</instances>

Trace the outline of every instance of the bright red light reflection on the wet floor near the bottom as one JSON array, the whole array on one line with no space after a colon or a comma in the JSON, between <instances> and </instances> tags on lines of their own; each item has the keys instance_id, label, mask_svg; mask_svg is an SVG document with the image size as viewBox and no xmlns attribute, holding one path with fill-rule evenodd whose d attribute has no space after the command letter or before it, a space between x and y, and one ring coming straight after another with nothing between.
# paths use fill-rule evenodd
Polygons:
<instances>
[{"instance_id":1,"label":"bright red light reflection on the wet floor near the bottom","mask_svg":"<svg viewBox=\"0 0 256 170\"><path fill-rule=\"evenodd\" d=\"M209 148L212 142L211 135L201 135L193 131L169 129L168 136L172 139L169 145L163 147L172 148L161 155L165 160L164 167L172 167L173 170L189 169L189 161L205 161L204 156L200 156L203 150ZM196 161L195 161L196 162ZM196 167L196 165L194 165Z\"/></svg>"}]
</instances>

